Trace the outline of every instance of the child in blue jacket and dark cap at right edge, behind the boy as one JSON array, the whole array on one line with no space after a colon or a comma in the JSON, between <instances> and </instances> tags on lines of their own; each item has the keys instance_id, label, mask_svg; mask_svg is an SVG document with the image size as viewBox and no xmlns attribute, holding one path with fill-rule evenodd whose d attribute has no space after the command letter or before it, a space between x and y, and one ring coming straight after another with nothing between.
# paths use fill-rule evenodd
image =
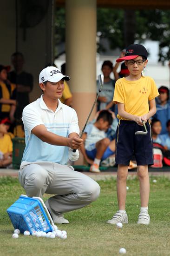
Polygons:
<instances>
[{"instance_id":1,"label":"child in blue jacket and dark cap at right edge, behind the boy","mask_svg":"<svg viewBox=\"0 0 170 256\"><path fill-rule=\"evenodd\" d=\"M170 102L169 102L169 89L166 86L161 86L158 89L159 96L157 107L157 113L153 118L157 118L162 125L161 135L167 133L166 123L170 119Z\"/></svg>"}]
</instances>

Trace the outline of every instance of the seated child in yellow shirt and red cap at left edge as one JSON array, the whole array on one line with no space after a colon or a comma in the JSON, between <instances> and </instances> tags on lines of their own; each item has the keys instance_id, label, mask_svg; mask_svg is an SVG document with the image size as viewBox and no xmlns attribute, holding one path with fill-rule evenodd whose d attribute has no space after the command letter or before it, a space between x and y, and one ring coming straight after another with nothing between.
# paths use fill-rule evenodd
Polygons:
<instances>
[{"instance_id":1,"label":"seated child in yellow shirt and red cap at left edge","mask_svg":"<svg viewBox=\"0 0 170 256\"><path fill-rule=\"evenodd\" d=\"M12 163L13 143L7 134L7 119L0 119L0 168Z\"/></svg>"}]
</instances>

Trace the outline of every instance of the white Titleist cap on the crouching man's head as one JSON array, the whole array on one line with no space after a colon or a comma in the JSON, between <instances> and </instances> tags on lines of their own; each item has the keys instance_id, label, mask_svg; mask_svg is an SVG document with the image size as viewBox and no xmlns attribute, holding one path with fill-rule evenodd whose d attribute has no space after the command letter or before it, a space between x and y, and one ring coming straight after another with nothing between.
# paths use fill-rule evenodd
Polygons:
<instances>
[{"instance_id":1,"label":"white Titleist cap on the crouching man's head","mask_svg":"<svg viewBox=\"0 0 170 256\"><path fill-rule=\"evenodd\" d=\"M53 83L59 82L61 79L66 81L70 80L70 77L63 75L57 67L46 67L39 74L39 83L50 81Z\"/></svg>"}]
</instances>

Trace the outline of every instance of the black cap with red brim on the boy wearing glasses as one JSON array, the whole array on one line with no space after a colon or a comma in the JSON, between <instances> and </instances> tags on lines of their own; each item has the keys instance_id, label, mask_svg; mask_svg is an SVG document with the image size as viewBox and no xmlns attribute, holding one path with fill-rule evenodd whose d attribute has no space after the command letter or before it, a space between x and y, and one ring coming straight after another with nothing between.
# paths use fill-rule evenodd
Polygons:
<instances>
[{"instance_id":1,"label":"black cap with red brim on the boy wearing glasses","mask_svg":"<svg viewBox=\"0 0 170 256\"><path fill-rule=\"evenodd\" d=\"M116 62L128 61L137 58L138 56L144 56L147 60L148 52L146 48L141 44L131 44L126 48L124 57L118 58Z\"/></svg>"}]
</instances>

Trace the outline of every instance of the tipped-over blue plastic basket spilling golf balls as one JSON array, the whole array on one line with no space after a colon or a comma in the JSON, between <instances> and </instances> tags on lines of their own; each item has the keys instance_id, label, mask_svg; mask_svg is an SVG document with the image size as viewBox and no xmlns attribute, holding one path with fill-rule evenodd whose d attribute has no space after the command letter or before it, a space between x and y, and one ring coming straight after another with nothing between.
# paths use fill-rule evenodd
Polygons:
<instances>
[{"instance_id":1,"label":"tipped-over blue plastic basket spilling golf balls","mask_svg":"<svg viewBox=\"0 0 170 256\"><path fill-rule=\"evenodd\" d=\"M40 197L20 195L20 198L7 209L7 214L14 229L20 229L21 233L24 233L25 230L28 230L30 234L33 233L33 230L45 231L46 233L54 230L52 218Z\"/></svg>"}]
</instances>

